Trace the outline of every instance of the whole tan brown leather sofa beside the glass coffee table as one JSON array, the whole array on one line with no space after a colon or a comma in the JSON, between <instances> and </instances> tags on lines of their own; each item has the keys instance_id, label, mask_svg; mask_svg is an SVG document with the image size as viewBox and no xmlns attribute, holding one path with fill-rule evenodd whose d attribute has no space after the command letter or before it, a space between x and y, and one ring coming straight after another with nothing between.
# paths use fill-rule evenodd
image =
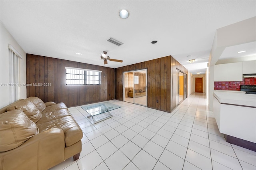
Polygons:
<instances>
[{"instance_id":1,"label":"whole tan brown leather sofa beside the glass coffee table","mask_svg":"<svg viewBox=\"0 0 256 170\"><path fill-rule=\"evenodd\" d=\"M79 158L83 132L64 103L38 97L0 110L0 170L47 170Z\"/></svg>"}]
</instances>

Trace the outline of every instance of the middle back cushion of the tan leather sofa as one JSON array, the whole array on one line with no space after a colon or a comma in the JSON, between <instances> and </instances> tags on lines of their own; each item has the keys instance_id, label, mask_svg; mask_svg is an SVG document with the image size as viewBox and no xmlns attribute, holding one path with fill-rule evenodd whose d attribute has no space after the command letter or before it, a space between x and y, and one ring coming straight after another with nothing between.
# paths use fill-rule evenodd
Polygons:
<instances>
[{"instance_id":1,"label":"middle back cushion of the tan leather sofa","mask_svg":"<svg viewBox=\"0 0 256 170\"><path fill-rule=\"evenodd\" d=\"M36 106L27 100L18 101L17 103L10 105L6 110L11 111L14 109L22 110L34 123L39 121L42 117L41 112L36 108Z\"/></svg>"}]
</instances>

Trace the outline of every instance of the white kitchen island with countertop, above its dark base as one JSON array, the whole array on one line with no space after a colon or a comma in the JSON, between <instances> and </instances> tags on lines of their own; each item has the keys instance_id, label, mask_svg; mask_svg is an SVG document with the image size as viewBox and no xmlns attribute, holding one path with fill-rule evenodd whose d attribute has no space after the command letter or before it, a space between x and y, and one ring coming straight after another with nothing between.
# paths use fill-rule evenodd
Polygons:
<instances>
[{"instance_id":1,"label":"white kitchen island with countertop, above its dark base","mask_svg":"<svg viewBox=\"0 0 256 170\"><path fill-rule=\"evenodd\" d=\"M221 133L256 143L256 95L214 92L213 113Z\"/></svg>"}]
</instances>

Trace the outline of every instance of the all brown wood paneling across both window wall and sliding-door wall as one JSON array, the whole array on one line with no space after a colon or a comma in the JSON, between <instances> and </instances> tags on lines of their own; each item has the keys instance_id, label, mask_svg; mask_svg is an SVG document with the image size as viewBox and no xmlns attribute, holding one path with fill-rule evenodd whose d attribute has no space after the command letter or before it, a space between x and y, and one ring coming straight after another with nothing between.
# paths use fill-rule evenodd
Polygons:
<instances>
[{"instance_id":1,"label":"all brown wood paneling across both window wall and sliding-door wall","mask_svg":"<svg viewBox=\"0 0 256 170\"><path fill-rule=\"evenodd\" d=\"M188 74L188 70L178 63L176 59L172 56L167 56L116 69L105 67L105 77L102 75L102 85L100 87L67 87L66 83L64 83L66 66L99 69L102 73L104 67L38 56L40 59L38 60L39 66L36 71L35 57L36 55L27 54L27 83L40 81L38 83L51 83L51 86L43 89L40 87L39 94L36 94L35 87L27 87L27 97L39 95L37 97L43 99L44 102L64 102L68 107L111 100L112 98L123 101L123 72L147 69L147 106L170 113L176 107L176 89L174 87L176 68ZM40 73L42 69L44 69L44 73ZM42 75L44 75L44 78L42 78ZM158 104L156 100L158 100Z\"/></svg>"}]
</instances>

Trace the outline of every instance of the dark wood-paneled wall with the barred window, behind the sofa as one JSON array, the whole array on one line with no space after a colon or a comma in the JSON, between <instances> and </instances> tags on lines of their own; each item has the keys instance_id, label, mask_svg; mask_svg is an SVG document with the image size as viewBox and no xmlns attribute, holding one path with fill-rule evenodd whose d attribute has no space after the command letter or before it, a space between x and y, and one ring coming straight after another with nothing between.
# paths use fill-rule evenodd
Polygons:
<instances>
[{"instance_id":1,"label":"dark wood-paneled wall with the barred window, behind the sofa","mask_svg":"<svg viewBox=\"0 0 256 170\"><path fill-rule=\"evenodd\" d=\"M102 85L66 86L65 67L101 70ZM102 66L27 54L27 84L32 84L27 86L27 97L63 102L68 107L115 99L115 69L105 67L103 75Z\"/></svg>"}]
</instances>

